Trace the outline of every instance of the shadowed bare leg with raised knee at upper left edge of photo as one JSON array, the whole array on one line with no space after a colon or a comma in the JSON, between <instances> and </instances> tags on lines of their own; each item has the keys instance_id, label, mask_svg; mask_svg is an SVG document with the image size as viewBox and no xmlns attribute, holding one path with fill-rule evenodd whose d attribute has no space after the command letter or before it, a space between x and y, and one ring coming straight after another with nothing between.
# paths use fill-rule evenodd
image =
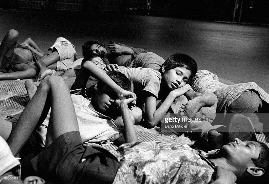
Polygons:
<instances>
[{"instance_id":1,"label":"shadowed bare leg with raised knee at upper left edge of photo","mask_svg":"<svg viewBox=\"0 0 269 184\"><path fill-rule=\"evenodd\" d=\"M15 29L11 29L6 33L1 45L0 45L0 69L3 69L6 66L4 58L11 57L11 54L14 52L14 48L18 41L19 32Z\"/></svg>"}]
</instances>

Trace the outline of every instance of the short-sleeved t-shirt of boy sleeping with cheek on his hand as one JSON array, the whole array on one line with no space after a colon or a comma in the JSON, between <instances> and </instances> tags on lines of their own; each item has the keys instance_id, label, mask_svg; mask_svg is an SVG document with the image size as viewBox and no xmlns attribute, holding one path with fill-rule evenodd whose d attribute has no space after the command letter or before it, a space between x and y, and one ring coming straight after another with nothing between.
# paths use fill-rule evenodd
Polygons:
<instances>
[{"instance_id":1,"label":"short-sleeved t-shirt of boy sleeping with cheek on his hand","mask_svg":"<svg viewBox=\"0 0 269 184\"><path fill-rule=\"evenodd\" d=\"M152 93L158 98L160 91L161 74L158 71L154 71L150 68L120 68L119 72L123 73L130 80L132 85L132 91L137 96L137 106L142 105L145 102L143 92L147 91Z\"/></svg>"}]
</instances>

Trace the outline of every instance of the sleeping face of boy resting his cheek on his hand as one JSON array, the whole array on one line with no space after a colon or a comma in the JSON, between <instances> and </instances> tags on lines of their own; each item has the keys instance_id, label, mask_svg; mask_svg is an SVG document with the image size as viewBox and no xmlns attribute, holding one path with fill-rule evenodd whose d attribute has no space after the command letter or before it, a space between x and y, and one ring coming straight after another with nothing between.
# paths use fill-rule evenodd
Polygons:
<instances>
[{"instance_id":1,"label":"sleeping face of boy resting his cheek on his hand","mask_svg":"<svg viewBox=\"0 0 269 184\"><path fill-rule=\"evenodd\" d=\"M169 71L164 71L164 69L162 70L164 72L162 80L171 91L184 86L191 75L191 72L185 67L176 67Z\"/></svg>"}]
</instances>

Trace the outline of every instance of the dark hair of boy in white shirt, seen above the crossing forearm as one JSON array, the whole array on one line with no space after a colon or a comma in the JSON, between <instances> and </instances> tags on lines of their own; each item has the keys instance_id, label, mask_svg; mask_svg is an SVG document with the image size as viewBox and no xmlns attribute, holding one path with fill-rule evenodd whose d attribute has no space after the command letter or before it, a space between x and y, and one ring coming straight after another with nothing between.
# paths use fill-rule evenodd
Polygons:
<instances>
[{"instance_id":1,"label":"dark hair of boy in white shirt, seen above the crossing forearm","mask_svg":"<svg viewBox=\"0 0 269 184\"><path fill-rule=\"evenodd\" d=\"M131 83L130 80L124 75L123 73L119 71L108 71L106 74L122 89L131 91ZM104 86L104 84L99 81L98 85Z\"/></svg>"}]
</instances>

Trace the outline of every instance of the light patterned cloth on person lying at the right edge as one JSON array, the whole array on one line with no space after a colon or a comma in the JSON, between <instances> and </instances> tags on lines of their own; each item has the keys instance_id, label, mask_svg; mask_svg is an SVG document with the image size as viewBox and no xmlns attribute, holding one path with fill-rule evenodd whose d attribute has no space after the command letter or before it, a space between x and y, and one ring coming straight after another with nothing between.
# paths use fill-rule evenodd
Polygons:
<instances>
[{"instance_id":1,"label":"light patterned cloth on person lying at the right edge","mask_svg":"<svg viewBox=\"0 0 269 184\"><path fill-rule=\"evenodd\" d=\"M190 83L195 92L202 94L214 93L218 97L216 113L226 114L229 105L233 103L243 92L254 90L260 98L269 103L269 95L256 83L240 83L228 86L219 82L217 75L207 70L199 70Z\"/></svg>"}]
</instances>

